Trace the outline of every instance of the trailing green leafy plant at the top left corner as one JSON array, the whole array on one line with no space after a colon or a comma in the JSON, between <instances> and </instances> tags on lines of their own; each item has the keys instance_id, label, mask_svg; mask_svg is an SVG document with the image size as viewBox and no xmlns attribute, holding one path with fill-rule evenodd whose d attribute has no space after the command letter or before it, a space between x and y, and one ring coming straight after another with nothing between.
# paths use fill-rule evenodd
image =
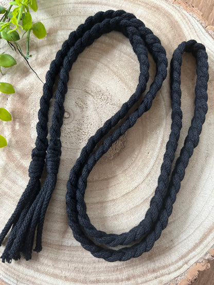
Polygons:
<instances>
[{"instance_id":1,"label":"trailing green leafy plant at the top left corner","mask_svg":"<svg viewBox=\"0 0 214 285\"><path fill-rule=\"evenodd\" d=\"M36 0L16 0L9 2L10 6L8 9L0 6L0 14L3 14L0 20L0 39L6 40L9 46L13 49L13 44L17 47L21 55L28 60L32 55L29 54L29 42L30 33L38 38L42 39L46 35L46 30L41 22L32 24L32 16L30 9L34 12L38 10ZM12 10L13 8L13 10ZM26 36L26 55L17 41L20 40L21 30L24 31L23 36ZM13 43L13 44L12 44ZM11 67L16 64L16 61L10 54L4 52L0 54L0 72L2 73L1 67ZM3 73L2 73L3 75ZM10 83L0 82L0 91L3 93L11 94L15 93L13 86ZM0 120L10 121L11 115L5 108L0 108ZM0 148L7 145L6 139L0 135Z\"/></svg>"}]
</instances>

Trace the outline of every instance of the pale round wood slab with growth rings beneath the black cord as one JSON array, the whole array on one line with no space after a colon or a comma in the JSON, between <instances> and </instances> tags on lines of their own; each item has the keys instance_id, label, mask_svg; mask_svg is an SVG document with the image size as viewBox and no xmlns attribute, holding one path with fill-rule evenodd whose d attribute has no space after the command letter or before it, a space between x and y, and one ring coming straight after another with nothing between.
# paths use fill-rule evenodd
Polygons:
<instances>
[{"instance_id":1,"label":"pale round wood slab with growth rings beneath the black cord","mask_svg":"<svg viewBox=\"0 0 214 285\"><path fill-rule=\"evenodd\" d=\"M9 284L185 284L187 271L194 272L194 264L204 262L201 268L209 267L206 259L212 258L209 251L214 248L213 39L190 14L169 1L79 0L70 3L63 0L59 5L53 0L51 7L45 1L38 1L38 6L40 12L33 20L44 23L47 37L40 41L32 37L30 64L43 82L50 62L70 31L97 11L124 9L134 13L161 39L169 60L182 41L195 39L206 46L210 74L209 110L169 224L154 248L126 262L109 263L93 257L74 239L67 223L65 193L69 170L88 138L129 99L139 74L137 58L124 36L112 32L100 37L79 56L70 72L61 135L62 158L58 183L45 218L43 250L39 254L33 253L30 261L1 263L0 278ZM2 123L1 129L8 140L8 147L1 149L0 161L1 229L28 181L42 95L42 83L19 55L12 55L19 65L11 72L7 71L5 81L15 86L16 93L2 96L1 101L13 117L11 122ZM149 59L151 83L155 66L151 56ZM181 77L183 129L176 156L193 115L195 62L189 54L183 56ZM50 116L51 113L52 108ZM144 218L157 184L170 131L170 116L168 76L151 109L113 145L88 178L87 213L98 229L121 233ZM186 284L188 282L186 280Z\"/></svg>"}]
</instances>

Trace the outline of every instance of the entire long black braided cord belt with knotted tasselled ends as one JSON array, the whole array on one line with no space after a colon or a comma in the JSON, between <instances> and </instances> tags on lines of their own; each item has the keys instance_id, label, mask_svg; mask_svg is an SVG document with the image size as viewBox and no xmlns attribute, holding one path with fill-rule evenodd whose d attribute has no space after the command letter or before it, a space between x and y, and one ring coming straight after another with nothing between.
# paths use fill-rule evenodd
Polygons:
<instances>
[{"instance_id":1,"label":"entire long black braided cord belt with knotted tasselled ends","mask_svg":"<svg viewBox=\"0 0 214 285\"><path fill-rule=\"evenodd\" d=\"M80 157L72 170L70 170L66 193L69 226L73 230L74 237L81 243L84 249L90 251L95 257L103 258L107 261L126 261L148 252L167 226L168 218L172 213L172 205L175 202L176 194L179 192L181 181L185 175L185 168L188 165L194 147L199 143L199 136L205 121L207 112L206 91L209 78L207 53L204 45L194 40L181 43L173 53L170 65L171 133L166 145L161 174L159 175L157 187L145 218L127 233L117 235L98 231L91 224L86 214L84 195L87 177L96 162L109 150L112 144L131 128L144 112L150 109L152 100L167 76L165 49L152 31L145 27L144 23L133 14L122 10L98 12L94 16L88 17L84 24L80 25L76 31L70 33L68 40L63 43L62 49L57 52L56 59L51 62L50 69L46 74L46 83L43 86L43 96L40 100L38 113L38 137L35 141L35 148L32 150L32 161L29 167L30 179L14 213L0 235L0 243L2 244L12 227L5 250L1 256L3 262L19 259L21 252L25 259L29 260L36 230L34 251L40 252L42 250L42 230L45 213L51 194L56 186L60 164L60 128L63 123L63 103L67 92L69 71L85 47L91 45L102 34L113 30L123 33L130 40L140 65L139 83L129 101L124 103L121 109L88 140L85 147L81 150ZM140 101L141 94L146 89L149 79L148 51L156 64L155 78L144 99L139 102L137 109L128 116L129 110L136 102ZM195 108L180 157L177 158L175 167L172 170L174 153L182 128L180 75L182 53L185 51L191 52L197 63ZM58 74L60 79L55 93L50 141L48 143L47 122L49 104L53 96L53 84ZM119 122L122 123L118 124ZM114 129L112 130L112 128ZM98 145L100 141L101 145ZM44 165L46 165L47 169L47 178L41 187L40 178ZM117 245L129 245L130 243L132 243L131 246L124 246L119 250L112 249Z\"/></svg>"}]
</instances>

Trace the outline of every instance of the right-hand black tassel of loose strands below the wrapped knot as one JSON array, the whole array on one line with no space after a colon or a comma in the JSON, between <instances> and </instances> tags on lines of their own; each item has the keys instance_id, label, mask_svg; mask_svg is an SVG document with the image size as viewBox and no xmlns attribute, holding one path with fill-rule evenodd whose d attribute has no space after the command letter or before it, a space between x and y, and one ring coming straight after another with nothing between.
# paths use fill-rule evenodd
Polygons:
<instances>
[{"instance_id":1,"label":"right-hand black tassel of loose strands below the wrapped knot","mask_svg":"<svg viewBox=\"0 0 214 285\"><path fill-rule=\"evenodd\" d=\"M3 262L6 260L10 263L12 259L20 259L20 252L23 253L26 260L31 259L36 227L37 240L34 251L40 252L42 250L42 229L45 213L51 198L51 194L56 186L56 182L57 175L50 173L47 175L46 181L41 189L39 183L37 191L35 191L35 193L31 191L32 196L30 198L29 196L26 196L24 200L22 199L23 196L21 197L20 201L24 201L26 205L21 210L21 204L19 204L20 202L18 203L16 210L12 215L14 218L11 219L10 223L6 225L7 228L5 226L5 229L1 234L2 241L11 227L11 223L13 224L9 240L1 256ZM27 189L28 187L26 190Z\"/></svg>"}]
</instances>

